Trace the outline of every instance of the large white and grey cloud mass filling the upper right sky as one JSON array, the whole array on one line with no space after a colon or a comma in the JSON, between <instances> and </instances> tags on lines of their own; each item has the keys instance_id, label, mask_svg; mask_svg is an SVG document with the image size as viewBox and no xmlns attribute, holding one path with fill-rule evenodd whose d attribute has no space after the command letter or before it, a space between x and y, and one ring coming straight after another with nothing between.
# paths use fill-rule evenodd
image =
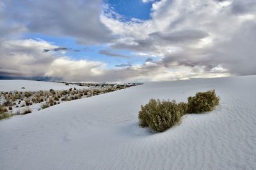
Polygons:
<instances>
[{"instance_id":1,"label":"large white and grey cloud mass filling the upper right sky","mask_svg":"<svg viewBox=\"0 0 256 170\"><path fill-rule=\"evenodd\" d=\"M154 53L161 57L159 69L200 67L204 76L256 74L255 8L253 0L162 0L153 4L152 20L124 23L104 17L102 22L122 37L113 48Z\"/></svg>"}]
</instances>

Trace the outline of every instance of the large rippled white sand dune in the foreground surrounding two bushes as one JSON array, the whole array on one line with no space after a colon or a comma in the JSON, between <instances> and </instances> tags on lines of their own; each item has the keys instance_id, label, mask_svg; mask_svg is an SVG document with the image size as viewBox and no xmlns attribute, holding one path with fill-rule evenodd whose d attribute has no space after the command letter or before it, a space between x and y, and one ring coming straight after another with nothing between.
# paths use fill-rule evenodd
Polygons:
<instances>
[{"instance_id":1,"label":"large rippled white sand dune in the foreground surrounding two bushes","mask_svg":"<svg viewBox=\"0 0 256 170\"><path fill-rule=\"evenodd\" d=\"M0 169L256 169L256 76L147 83L0 121ZM150 98L216 89L220 106L154 134Z\"/></svg>"}]
</instances>

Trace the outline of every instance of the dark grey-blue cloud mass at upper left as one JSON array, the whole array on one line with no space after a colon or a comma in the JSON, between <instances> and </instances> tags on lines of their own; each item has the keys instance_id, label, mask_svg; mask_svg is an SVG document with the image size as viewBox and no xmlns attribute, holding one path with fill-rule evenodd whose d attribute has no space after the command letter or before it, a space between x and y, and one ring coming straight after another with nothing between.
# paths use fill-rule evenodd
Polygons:
<instances>
[{"instance_id":1,"label":"dark grey-blue cloud mass at upper left","mask_svg":"<svg viewBox=\"0 0 256 170\"><path fill-rule=\"evenodd\" d=\"M5 13L29 32L76 38L79 43L106 43L111 31L100 21L102 1L3 1Z\"/></svg>"}]
</instances>

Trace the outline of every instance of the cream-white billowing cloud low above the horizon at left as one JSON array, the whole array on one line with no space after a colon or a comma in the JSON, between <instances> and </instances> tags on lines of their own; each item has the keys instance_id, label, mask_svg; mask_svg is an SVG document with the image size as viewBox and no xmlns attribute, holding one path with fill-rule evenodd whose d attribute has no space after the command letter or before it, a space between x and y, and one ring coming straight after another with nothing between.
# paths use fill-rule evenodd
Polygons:
<instances>
[{"instance_id":1,"label":"cream-white billowing cloud low above the horizon at left","mask_svg":"<svg viewBox=\"0 0 256 170\"><path fill-rule=\"evenodd\" d=\"M2 76L49 76L62 80L93 81L102 74L104 64L89 60L74 60L61 53L44 52L58 48L43 40L8 40L0 43L0 75Z\"/></svg>"}]
</instances>

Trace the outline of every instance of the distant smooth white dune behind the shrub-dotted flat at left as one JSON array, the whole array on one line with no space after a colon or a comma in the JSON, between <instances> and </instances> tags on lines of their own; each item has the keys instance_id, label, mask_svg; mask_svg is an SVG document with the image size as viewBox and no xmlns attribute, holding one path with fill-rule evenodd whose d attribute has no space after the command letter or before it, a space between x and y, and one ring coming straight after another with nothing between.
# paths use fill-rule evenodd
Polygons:
<instances>
[{"instance_id":1,"label":"distant smooth white dune behind the shrub-dotted flat at left","mask_svg":"<svg viewBox=\"0 0 256 170\"><path fill-rule=\"evenodd\" d=\"M25 89L21 89L25 87ZM0 92L18 91L38 91L38 90L67 90L70 88L84 89L78 85L65 85L65 83L54 83L50 81L33 80L0 80Z\"/></svg>"}]
</instances>

